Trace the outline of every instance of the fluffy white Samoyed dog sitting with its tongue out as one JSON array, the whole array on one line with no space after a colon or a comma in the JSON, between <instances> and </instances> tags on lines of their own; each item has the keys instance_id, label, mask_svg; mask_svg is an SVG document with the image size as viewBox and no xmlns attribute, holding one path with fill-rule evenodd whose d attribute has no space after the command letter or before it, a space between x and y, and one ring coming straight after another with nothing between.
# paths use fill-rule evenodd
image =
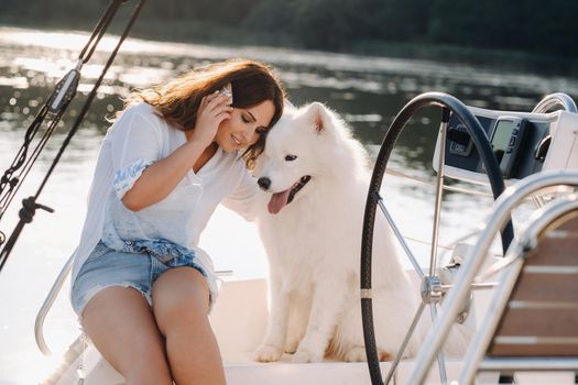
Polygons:
<instances>
[{"instance_id":1,"label":"fluffy white Samoyed dog sitting with its tongue out","mask_svg":"<svg viewBox=\"0 0 578 385\"><path fill-rule=\"evenodd\" d=\"M321 103L287 107L255 164L266 210L255 221L270 263L271 311L255 359L364 361L359 260L370 173L363 146ZM391 229L377 216L373 314L380 359L394 358L419 305ZM426 315L428 316L428 315ZM422 317L426 319L428 317ZM421 324L426 322L421 322ZM419 327L404 356L416 354ZM446 344L460 354L467 331Z\"/></svg>"}]
</instances>

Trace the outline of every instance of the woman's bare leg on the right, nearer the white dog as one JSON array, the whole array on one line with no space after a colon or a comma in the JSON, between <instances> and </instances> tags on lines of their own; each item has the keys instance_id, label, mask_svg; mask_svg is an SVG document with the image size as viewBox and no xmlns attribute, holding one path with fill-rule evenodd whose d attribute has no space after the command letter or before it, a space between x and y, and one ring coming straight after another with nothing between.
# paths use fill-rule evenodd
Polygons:
<instances>
[{"instance_id":1,"label":"woman's bare leg on the right, nearer the white dog","mask_svg":"<svg viewBox=\"0 0 578 385\"><path fill-rule=\"evenodd\" d=\"M208 320L209 288L192 267L163 273L153 285L153 311L166 337L171 373L178 385L225 384L222 361Z\"/></svg>"}]
</instances>

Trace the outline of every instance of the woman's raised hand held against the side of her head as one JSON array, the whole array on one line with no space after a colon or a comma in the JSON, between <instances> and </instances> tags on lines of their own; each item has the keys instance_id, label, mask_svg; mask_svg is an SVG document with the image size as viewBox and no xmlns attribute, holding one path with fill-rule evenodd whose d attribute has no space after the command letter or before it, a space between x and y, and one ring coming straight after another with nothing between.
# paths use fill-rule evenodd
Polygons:
<instances>
[{"instance_id":1,"label":"woman's raised hand held against the side of her head","mask_svg":"<svg viewBox=\"0 0 578 385\"><path fill-rule=\"evenodd\" d=\"M230 103L230 97L219 91L204 97L198 107L195 129L189 141L198 142L205 147L209 146L215 140L219 124L231 117Z\"/></svg>"}]
</instances>

